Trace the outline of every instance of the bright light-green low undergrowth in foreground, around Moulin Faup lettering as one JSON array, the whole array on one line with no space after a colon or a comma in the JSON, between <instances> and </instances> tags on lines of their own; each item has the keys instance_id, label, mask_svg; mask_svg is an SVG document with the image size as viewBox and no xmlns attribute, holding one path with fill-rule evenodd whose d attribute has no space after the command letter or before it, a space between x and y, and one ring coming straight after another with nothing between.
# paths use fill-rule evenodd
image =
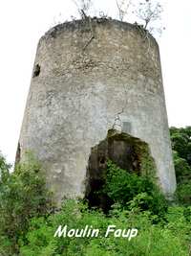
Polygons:
<instances>
[{"instance_id":1,"label":"bright light-green low undergrowth in foreground, around Moulin Faup lettering","mask_svg":"<svg viewBox=\"0 0 191 256\"><path fill-rule=\"evenodd\" d=\"M186 221L182 209L171 210L168 225L152 224L153 216L147 212L117 209L108 218L100 211L89 210L74 200L66 201L62 210L48 219L33 219L27 235L27 243L21 243L22 256L163 256L188 255L190 222ZM84 228L93 225L101 231L97 238L54 238L58 225L70 228ZM117 228L138 228L138 237L105 238L109 224Z\"/></svg>"}]
</instances>

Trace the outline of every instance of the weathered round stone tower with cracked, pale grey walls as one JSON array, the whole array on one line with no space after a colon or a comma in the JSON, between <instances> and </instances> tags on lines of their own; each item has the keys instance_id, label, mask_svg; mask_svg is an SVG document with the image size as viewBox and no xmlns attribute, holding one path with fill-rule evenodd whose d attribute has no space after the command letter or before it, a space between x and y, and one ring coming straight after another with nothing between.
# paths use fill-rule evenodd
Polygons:
<instances>
[{"instance_id":1,"label":"weathered round stone tower with cracked, pale grey walls","mask_svg":"<svg viewBox=\"0 0 191 256\"><path fill-rule=\"evenodd\" d=\"M57 25L37 47L17 158L28 150L37 155L58 201L84 197L91 151L112 128L148 145L159 185L172 195L176 178L156 40L116 20Z\"/></svg>"}]
</instances>

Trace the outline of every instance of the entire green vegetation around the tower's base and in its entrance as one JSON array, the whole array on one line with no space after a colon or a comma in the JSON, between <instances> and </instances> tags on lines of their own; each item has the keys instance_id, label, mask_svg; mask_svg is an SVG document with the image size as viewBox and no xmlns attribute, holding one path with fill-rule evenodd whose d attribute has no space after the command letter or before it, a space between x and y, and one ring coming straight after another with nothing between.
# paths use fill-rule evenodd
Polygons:
<instances>
[{"instance_id":1,"label":"entire green vegetation around the tower's base and in its entrance","mask_svg":"<svg viewBox=\"0 0 191 256\"><path fill-rule=\"evenodd\" d=\"M14 173L0 155L0 255L2 256L186 256L191 244L191 128L171 128L180 205L169 206L147 176L130 174L108 162L98 193L113 205L107 215L86 203L65 200L53 211L43 170L28 155ZM98 238L54 238L59 225L100 230ZM104 237L109 224L138 228L138 237Z\"/></svg>"}]
</instances>

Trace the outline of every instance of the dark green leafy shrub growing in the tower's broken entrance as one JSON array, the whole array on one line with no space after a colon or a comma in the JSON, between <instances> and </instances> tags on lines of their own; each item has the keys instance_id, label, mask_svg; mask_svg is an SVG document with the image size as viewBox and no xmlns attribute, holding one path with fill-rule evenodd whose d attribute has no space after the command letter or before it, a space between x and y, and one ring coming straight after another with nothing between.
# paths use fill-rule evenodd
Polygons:
<instances>
[{"instance_id":1,"label":"dark green leafy shrub growing in the tower's broken entrance","mask_svg":"<svg viewBox=\"0 0 191 256\"><path fill-rule=\"evenodd\" d=\"M119 203L122 207L128 207L130 203L132 206L134 202L141 210L149 210L154 215L164 217L167 202L157 185L148 176L130 174L126 170L118 168L111 161L108 161L107 166L103 192L115 203Z\"/></svg>"}]
</instances>

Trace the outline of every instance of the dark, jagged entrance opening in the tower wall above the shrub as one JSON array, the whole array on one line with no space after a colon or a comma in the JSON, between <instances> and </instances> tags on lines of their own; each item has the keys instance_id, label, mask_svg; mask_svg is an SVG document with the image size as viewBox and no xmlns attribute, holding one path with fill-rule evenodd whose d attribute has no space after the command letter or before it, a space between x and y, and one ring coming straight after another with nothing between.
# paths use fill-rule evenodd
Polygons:
<instances>
[{"instance_id":1,"label":"dark, jagged entrance opening in the tower wall above the shrub","mask_svg":"<svg viewBox=\"0 0 191 256\"><path fill-rule=\"evenodd\" d=\"M147 143L127 133L111 129L105 140L91 150L87 168L85 198L90 207L108 213L113 204L102 188L106 180L107 161L112 160L121 169L137 175L154 175L155 162Z\"/></svg>"}]
</instances>

